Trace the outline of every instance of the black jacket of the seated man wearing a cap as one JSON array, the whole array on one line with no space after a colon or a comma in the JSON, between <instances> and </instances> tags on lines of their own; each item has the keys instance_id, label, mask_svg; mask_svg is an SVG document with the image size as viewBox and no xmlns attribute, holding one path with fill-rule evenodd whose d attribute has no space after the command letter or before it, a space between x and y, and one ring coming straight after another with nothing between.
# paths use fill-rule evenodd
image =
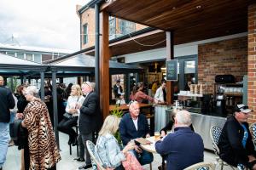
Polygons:
<instances>
[{"instance_id":1,"label":"black jacket of the seated man wearing a cap","mask_svg":"<svg viewBox=\"0 0 256 170\"><path fill-rule=\"evenodd\" d=\"M249 161L247 156L256 156L248 123L244 122L243 124L247 127L248 132L246 148L241 144L243 127L237 122L235 116L228 117L218 141L220 158L234 167L237 167L238 163L246 164Z\"/></svg>"}]
</instances>

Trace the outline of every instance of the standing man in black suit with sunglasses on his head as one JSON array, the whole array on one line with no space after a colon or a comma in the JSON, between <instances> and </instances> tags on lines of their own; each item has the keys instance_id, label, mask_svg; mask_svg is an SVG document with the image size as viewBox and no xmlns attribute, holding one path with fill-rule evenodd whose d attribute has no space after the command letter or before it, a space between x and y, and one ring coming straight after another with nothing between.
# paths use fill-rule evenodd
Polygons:
<instances>
[{"instance_id":1,"label":"standing man in black suit with sunglasses on his head","mask_svg":"<svg viewBox=\"0 0 256 170\"><path fill-rule=\"evenodd\" d=\"M100 123L100 106L98 105L99 99L93 90L93 83L84 82L82 84L82 91L86 95L83 105L77 105L80 110L79 115L79 148L80 155L86 154L85 164L80 166L79 169L87 169L91 167L90 155L86 147L86 141L93 140L93 134L98 129ZM82 144L81 144L82 141ZM84 157L84 156L83 156Z\"/></svg>"}]
</instances>

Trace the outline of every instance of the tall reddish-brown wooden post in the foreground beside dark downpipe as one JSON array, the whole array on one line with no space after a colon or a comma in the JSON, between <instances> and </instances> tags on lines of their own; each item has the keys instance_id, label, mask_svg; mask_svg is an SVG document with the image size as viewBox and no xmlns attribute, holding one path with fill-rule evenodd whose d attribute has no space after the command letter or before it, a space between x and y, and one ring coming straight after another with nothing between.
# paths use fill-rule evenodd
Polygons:
<instances>
[{"instance_id":1,"label":"tall reddish-brown wooden post in the foreground beside dark downpipe","mask_svg":"<svg viewBox=\"0 0 256 170\"><path fill-rule=\"evenodd\" d=\"M108 13L100 14L100 103L103 119L109 115L109 47L108 47Z\"/></svg>"}]
</instances>

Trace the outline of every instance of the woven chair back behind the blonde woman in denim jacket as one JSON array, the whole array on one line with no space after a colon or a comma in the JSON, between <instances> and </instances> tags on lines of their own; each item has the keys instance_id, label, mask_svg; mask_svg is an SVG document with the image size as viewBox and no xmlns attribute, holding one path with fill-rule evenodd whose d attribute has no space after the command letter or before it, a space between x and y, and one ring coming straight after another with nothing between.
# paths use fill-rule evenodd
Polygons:
<instances>
[{"instance_id":1,"label":"woven chair back behind the blonde woman in denim jacket","mask_svg":"<svg viewBox=\"0 0 256 170\"><path fill-rule=\"evenodd\" d=\"M87 140L86 147L92 161L92 169L106 170L104 167L102 167L102 162L100 161L98 153L95 150L95 144L93 144L90 140Z\"/></svg>"}]
</instances>

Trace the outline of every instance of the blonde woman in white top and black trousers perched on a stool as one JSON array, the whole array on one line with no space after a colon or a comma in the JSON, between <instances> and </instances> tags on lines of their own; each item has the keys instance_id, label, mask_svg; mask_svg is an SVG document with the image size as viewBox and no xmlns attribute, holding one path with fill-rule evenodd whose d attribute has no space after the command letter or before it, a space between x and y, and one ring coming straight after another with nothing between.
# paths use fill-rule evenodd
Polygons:
<instances>
[{"instance_id":1,"label":"blonde woman in white top and black trousers perched on a stool","mask_svg":"<svg viewBox=\"0 0 256 170\"><path fill-rule=\"evenodd\" d=\"M76 105L82 105L84 102L84 96L79 84L75 84L71 88L70 96L67 99L66 112L71 114L71 118L63 117L62 121L58 125L58 130L62 133L69 135L68 144L77 144L78 134L72 127L76 126L79 119L79 109L76 109Z\"/></svg>"}]
</instances>

